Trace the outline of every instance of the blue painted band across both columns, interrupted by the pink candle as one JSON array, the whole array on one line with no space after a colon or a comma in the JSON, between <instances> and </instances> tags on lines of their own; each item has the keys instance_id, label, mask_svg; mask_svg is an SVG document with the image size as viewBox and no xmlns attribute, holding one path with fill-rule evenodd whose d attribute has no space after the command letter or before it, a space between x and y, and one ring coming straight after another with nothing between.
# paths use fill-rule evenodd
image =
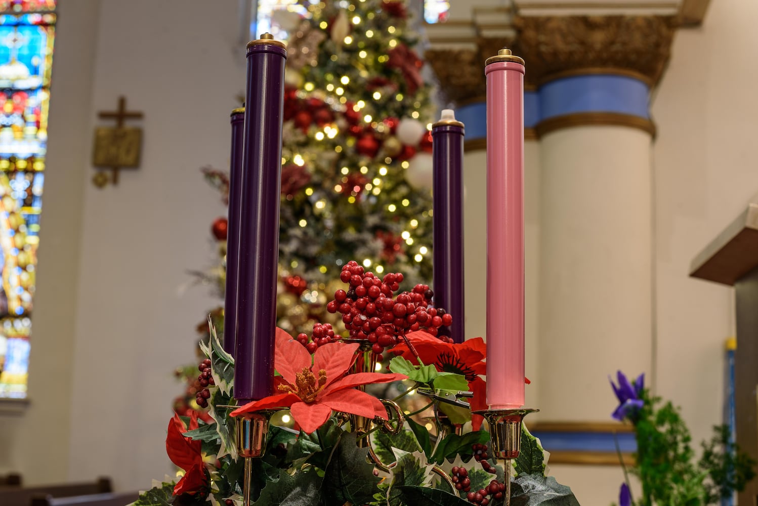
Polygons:
<instances>
[{"instance_id":1,"label":"blue painted band across both columns, interrupted by the pink candle","mask_svg":"<svg viewBox=\"0 0 758 506\"><path fill-rule=\"evenodd\" d=\"M588 75L551 81L536 92L524 92L524 127L565 114L610 112L650 119L650 89L634 77ZM466 140L487 138L487 104L476 102L456 109L466 126Z\"/></svg>"}]
</instances>

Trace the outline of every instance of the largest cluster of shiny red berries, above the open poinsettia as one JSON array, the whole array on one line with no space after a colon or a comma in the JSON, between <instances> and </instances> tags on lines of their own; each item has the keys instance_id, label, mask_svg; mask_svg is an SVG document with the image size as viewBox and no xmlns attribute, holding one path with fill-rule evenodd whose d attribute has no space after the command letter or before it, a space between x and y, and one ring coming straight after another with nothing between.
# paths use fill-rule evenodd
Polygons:
<instances>
[{"instance_id":1,"label":"largest cluster of shiny red berries, above the open poinsettia","mask_svg":"<svg viewBox=\"0 0 758 506\"><path fill-rule=\"evenodd\" d=\"M453 323L453 317L443 309L428 307L434 292L427 285L416 285L412 292L402 292L393 299L402 279L402 273L379 278L365 272L358 262L349 261L340 273L340 280L349 283L349 289L334 292L327 311L342 314L350 339L368 340L377 355L396 345L406 332L423 329L437 336L440 326Z\"/></svg>"}]
</instances>

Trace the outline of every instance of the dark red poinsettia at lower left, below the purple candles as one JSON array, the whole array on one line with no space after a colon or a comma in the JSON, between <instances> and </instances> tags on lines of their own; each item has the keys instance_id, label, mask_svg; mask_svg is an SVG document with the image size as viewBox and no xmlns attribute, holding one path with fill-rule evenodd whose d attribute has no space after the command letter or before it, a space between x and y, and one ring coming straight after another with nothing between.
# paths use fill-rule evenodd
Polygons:
<instances>
[{"instance_id":1,"label":"dark red poinsettia at lower left, below the purple candles","mask_svg":"<svg viewBox=\"0 0 758 506\"><path fill-rule=\"evenodd\" d=\"M197 429L197 413L193 411L189 428L178 414L174 414L168 423L166 436L166 453L171 462L184 470L184 476L174 486L174 495L197 494L208 488L208 474L202 462L202 442L184 437L188 430Z\"/></svg>"}]
</instances>

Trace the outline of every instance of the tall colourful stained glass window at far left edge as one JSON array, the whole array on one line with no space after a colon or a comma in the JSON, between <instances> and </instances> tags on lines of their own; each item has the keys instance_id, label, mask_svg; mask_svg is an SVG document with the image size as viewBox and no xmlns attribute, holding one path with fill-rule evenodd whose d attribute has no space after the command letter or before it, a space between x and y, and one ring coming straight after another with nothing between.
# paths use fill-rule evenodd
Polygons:
<instances>
[{"instance_id":1,"label":"tall colourful stained glass window at far left edge","mask_svg":"<svg viewBox=\"0 0 758 506\"><path fill-rule=\"evenodd\" d=\"M27 396L55 0L0 0L0 398Z\"/></svg>"}]
</instances>

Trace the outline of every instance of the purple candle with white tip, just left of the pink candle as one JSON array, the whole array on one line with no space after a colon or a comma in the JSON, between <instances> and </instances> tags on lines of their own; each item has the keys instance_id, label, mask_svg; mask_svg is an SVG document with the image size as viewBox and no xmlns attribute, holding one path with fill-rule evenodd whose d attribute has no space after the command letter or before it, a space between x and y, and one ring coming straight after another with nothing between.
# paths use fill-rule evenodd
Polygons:
<instances>
[{"instance_id":1,"label":"purple candle with white tip, just left of the pink candle","mask_svg":"<svg viewBox=\"0 0 758 506\"><path fill-rule=\"evenodd\" d=\"M463 123L442 111L431 127L434 195L434 306L453 315L440 330L463 342Z\"/></svg>"}]
</instances>

